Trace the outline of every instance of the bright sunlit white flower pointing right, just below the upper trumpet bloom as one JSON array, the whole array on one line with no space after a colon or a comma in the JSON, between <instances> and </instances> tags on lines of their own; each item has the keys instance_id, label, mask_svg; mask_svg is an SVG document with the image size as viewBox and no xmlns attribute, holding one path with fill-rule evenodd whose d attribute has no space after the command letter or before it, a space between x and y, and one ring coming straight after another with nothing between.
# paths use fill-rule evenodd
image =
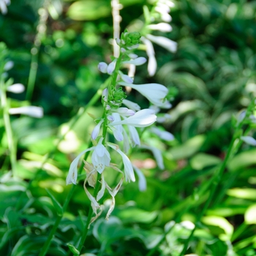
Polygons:
<instances>
[{"instance_id":1,"label":"bright sunlit white flower pointing right, just below the upper trumpet bloom","mask_svg":"<svg viewBox=\"0 0 256 256\"><path fill-rule=\"evenodd\" d=\"M113 121L111 126L118 124L132 125L133 127L148 127L157 120L157 116L154 114L154 110L143 109L135 113L134 116L130 116L122 121Z\"/></svg>"}]
</instances>

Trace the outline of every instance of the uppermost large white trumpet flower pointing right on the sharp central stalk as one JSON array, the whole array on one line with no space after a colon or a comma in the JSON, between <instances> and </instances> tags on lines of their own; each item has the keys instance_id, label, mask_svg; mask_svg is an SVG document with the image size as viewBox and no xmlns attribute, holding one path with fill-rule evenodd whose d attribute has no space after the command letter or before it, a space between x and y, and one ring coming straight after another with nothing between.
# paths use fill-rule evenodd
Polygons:
<instances>
[{"instance_id":1,"label":"uppermost large white trumpet flower pointing right on the sharp central stalk","mask_svg":"<svg viewBox=\"0 0 256 256\"><path fill-rule=\"evenodd\" d=\"M158 107L164 107L166 104L165 97L167 96L168 89L159 83L146 83L146 84L128 84L124 82L118 82L121 86L130 86L140 92L144 97L146 97L152 104Z\"/></svg>"}]
</instances>

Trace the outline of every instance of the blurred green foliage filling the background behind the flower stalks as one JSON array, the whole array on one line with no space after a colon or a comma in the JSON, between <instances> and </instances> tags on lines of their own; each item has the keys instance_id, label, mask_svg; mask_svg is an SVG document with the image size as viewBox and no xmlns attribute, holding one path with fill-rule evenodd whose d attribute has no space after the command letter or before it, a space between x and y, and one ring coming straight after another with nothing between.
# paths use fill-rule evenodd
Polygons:
<instances>
[{"instance_id":1,"label":"blurred green foliage filling the background behind the flower stalks","mask_svg":"<svg viewBox=\"0 0 256 256\"><path fill-rule=\"evenodd\" d=\"M121 31L143 20L143 5L151 8L146 0L120 2ZM209 196L208 184L225 157L238 113L248 107L252 95L256 97L255 1L175 4L170 13L173 31L159 35L178 42L177 52L156 45L157 74L149 78L142 66L135 83L162 83L175 95L164 126L176 140L150 138L163 152L165 170L159 170L150 151L132 154L146 176L147 190L140 192L137 183L123 186L110 220L100 217L91 226L83 249L88 255L179 255ZM38 33L42 7L49 15ZM94 127L90 115L101 112L100 102L86 112L83 107L105 80L97 64L109 62L113 54L110 1L12 0L7 15L0 15L0 31L7 59L14 63L9 76L26 86L22 94L8 93L10 105L30 102L44 109L43 118L11 116L18 159L12 172L0 120L0 254L39 255L62 214L50 195L64 204L71 189L65 184L70 162L88 147ZM146 57L143 50L138 52ZM29 88L36 69L34 89ZM133 91L131 96L143 101ZM80 118L72 125L78 111ZM256 255L256 149L242 144L235 153L197 223L188 255ZM108 177L109 184L115 179ZM89 207L80 183L47 255L71 254L67 244L78 243Z\"/></svg>"}]
</instances>

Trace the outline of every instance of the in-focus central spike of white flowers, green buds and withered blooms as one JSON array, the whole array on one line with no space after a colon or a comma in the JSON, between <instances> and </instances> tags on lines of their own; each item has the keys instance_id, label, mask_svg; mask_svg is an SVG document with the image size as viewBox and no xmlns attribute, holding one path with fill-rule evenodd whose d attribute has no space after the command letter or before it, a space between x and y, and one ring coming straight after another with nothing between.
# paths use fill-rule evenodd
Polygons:
<instances>
[{"instance_id":1,"label":"in-focus central spike of white flowers, green buds and withered blooms","mask_svg":"<svg viewBox=\"0 0 256 256\"><path fill-rule=\"evenodd\" d=\"M123 90L124 86L129 86L140 92L140 94L146 97L155 108L170 108L170 102L166 99L168 90L165 86L158 83L134 84L133 78L125 75L120 70L125 64L141 65L146 62L145 58L138 57L136 54L132 53L132 49L138 48L140 34L137 32L128 33L128 31L124 31L124 33L121 34L121 38L116 39L116 42L120 47L120 55L118 58L112 59L110 64L100 62L98 65L100 72L110 75L111 82L109 83L108 88L105 88L102 91L104 113L101 118L96 120L97 125L91 132L91 139L95 146L87 148L74 159L69 167L69 174L67 176L67 184L76 184L80 157L90 151L91 163L85 161L84 167L86 170L84 189L89 200L91 200L91 207L96 215L91 222L102 212L99 200L104 195L106 189L112 197L112 203L106 217L106 219L108 219L115 206L115 195L121 187L124 178L128 182L135 181L135 173L137 173L140 189L146 189L146 181L143 173L141 173L137 167L132 166L129 157L127 157L127 153L131 147L140 146L138 128L145 128L154 124L154 122L157 121L157 116L154 108L141 109L137 103L126 99L127 95ZM112 133L114 138L118 142L121 142L123 146L122 150L117 144L106 141L108 137L107 132ZM163 135L156 127L152 132L166 137L166 134ZM170 135L167 140L169 139ZM124 172L111 162L109 152L111 148L120 155L124 166ZM114 189L110 188L104 178L106 173L105 170L108 168L112 168L122 174L121 180ZM97 183L96 176L100 176L101 189L94 197L89 193L86 184L88 183L89 186L95 187L95 184Z\"/></svg>"}]
</instances>

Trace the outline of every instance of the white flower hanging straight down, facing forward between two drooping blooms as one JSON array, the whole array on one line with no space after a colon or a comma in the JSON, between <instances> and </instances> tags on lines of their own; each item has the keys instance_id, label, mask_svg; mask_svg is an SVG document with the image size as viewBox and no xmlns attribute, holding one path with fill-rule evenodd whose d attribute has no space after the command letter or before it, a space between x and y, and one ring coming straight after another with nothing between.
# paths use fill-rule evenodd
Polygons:
<instances>
[{"instance_id":1,"label":"white flower hanging straight down, facing forward between two drooping blooms","mask_svg":"<svg viewBox=\"0 0 256 256\"><path fill-rule=\"evenodd\" d=\"M91 162L98 173L102 173L106 166L110 165L110 154L105 146L102 145L103 138L99 139L99 143L91 154Z\"/></svg>"}]
</instances>

